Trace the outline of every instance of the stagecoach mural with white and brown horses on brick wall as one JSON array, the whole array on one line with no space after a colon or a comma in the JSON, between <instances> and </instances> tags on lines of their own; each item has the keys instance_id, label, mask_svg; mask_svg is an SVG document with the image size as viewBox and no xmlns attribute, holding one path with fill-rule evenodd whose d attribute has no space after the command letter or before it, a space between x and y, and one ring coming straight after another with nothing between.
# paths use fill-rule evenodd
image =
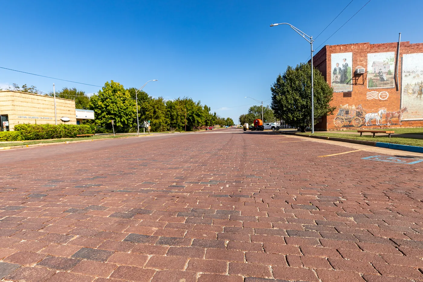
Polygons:
<instances>
[{"instance_id":1,"label":"stagecoach mural with white and brown horses on brick wall","mask_svg":"<svg viewBox=\"0 0 423 282\"><path fill-rule=\"evenodd\" d=\"M401 125L404 113L407 113L407 108L398 111L387 111L386 108L366 111L361 104L339 105L333 125L336 128Z\"/></svg>"}]
</instances>

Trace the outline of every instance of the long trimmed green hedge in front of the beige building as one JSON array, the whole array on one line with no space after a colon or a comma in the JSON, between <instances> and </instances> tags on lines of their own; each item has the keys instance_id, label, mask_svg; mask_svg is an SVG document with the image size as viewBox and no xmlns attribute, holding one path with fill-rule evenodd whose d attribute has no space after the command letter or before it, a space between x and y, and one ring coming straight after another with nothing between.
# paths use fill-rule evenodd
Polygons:
<instances>
[{"instance_id":1,"label":"long trimmed green hedge in front of the beige building","mask_svg":"<svg viewBox=\"0 0 423 282\"><path fill-rule=\"evenodd\" d=\"M21 133L22 140L75 138L77 134L92 132L90 126L84 124L16 124L14 130Z\"/></svg>"}]
</instances>

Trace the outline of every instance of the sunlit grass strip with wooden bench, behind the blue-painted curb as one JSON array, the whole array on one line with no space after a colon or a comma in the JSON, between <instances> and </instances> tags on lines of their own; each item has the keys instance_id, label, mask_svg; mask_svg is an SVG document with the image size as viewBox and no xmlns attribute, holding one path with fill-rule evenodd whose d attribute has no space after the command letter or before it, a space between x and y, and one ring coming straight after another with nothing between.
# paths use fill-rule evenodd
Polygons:
<instances>
[{"instance_id":1,"label":"sunlit grass strip with wooden bench, behind the blue-painted curb","mask_svg":"<svg viewBox=\"0 0 423 282\"><path fill-rule=\"evenodd\" d=\"M405 129L405 128L404 128ZM356 130L357 132L357 130ZM352 135L352 134L342 134L342 133L297 133L297 134L307 134L307 135L318 135L318 136L327 136L327 137L336 137L336 138L345 138L345 139L354 139L354 140L363 140L363 141L373 141L373 142L383 142L383 143L393 143L400 145L410 145L410 146L420 146L423 147L423 139L415 138L402 138L402 137L373 137L373 136L362 136Z\"/></svg>"}]
</instances>

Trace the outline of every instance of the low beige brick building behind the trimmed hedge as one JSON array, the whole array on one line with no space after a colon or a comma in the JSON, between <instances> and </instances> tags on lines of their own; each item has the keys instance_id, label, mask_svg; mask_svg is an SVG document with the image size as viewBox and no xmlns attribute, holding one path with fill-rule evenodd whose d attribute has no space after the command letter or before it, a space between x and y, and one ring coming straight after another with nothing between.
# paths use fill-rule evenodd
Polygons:
<instances>
[{"instance_id":1,"label":"low beige brick building behind the trimmed hedge","mask_svg":"<svg viewBox=\"0 0 423 282\"><path fill-rule=\"evenodd\" d=\"M56 98L57 124L77 124L75 101ZM69 121L66 121L69 118ZM0 129L16 124L55 124L54 98L14 90L0 91Z\"/></svg>"}]
</instances>

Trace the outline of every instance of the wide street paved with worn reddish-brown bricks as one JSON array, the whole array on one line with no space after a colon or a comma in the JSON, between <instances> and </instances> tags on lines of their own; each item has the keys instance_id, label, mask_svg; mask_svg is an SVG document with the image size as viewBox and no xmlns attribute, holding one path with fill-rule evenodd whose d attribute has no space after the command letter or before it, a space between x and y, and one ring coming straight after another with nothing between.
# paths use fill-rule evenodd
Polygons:
<instances>
[{"instance_id":1,"label":"wide street paved with worn reddish-brown bricks","mask_svg":"<svg viewBox=\"0 0 423 282\"><path fill-rule=\"evenodd\" d=\"M0 279L422 282L423 163L296 140L228 129L0 152Z\"/></svg>"}]
</instances>

